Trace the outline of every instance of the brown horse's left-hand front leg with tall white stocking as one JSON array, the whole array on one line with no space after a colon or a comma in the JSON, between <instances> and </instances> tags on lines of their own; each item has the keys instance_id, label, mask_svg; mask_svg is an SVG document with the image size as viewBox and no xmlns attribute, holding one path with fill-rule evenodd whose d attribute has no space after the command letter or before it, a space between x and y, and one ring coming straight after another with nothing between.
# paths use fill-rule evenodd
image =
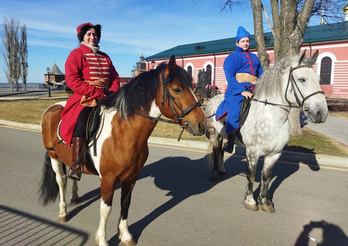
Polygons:
<instances>
[{"instance_id":1,"label":"brown horse's left-hand front leg with tall white stocking","mask_svg":"<svg viewBox=\"0 0 348 246\"><path fill-rule=\"evenodd\" d=\"M109 246L106 241L106 223L112 209L114 185L114 181L111 178L102 176L100 181L100 223L95 233L95 241L98 246Z\"/></svg>"}]
</instances>

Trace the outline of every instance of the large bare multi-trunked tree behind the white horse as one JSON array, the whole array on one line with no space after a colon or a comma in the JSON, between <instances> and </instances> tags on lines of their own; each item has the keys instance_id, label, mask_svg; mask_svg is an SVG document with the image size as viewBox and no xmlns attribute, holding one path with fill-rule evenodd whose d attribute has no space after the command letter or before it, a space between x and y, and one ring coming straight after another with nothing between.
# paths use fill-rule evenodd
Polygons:
<instances>
[{"instance_id":1,"label":"large bare multi-trunked tree behind the white horse","mask_svg":"<svg viewBox=\"0 0 348 246\"><path fill-rule=\"evenodd\" d=\"M231 12L236 8L248 8L249 2L241 0L220 1L221 11ZM258 56L264 69L269 68L270 60L266 53L266 44L263 35L263 15L274 38L274 59L279 61L286 55L295 55L300 52L303 35L310 18L322 17L324 22L343 21L342 8L346 0L269 0L267 2L272 14L268 17L267 9L261 0L250 0L254 18L254 33ZM324 14L323 14L324 13ZM300 135L299 109L291 109L289 120L291 134Z\"/></svg>"}]
</instances>

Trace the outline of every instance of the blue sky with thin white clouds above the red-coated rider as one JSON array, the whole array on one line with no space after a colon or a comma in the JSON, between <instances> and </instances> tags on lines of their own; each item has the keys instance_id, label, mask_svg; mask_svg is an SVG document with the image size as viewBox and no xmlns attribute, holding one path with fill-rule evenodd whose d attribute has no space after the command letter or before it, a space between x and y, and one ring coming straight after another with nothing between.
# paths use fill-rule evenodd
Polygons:
<instances>
[{"instance_id":1,"label":"blue sky with thin white clouds above the red-coated rider","mask_svg":"<svg viewBox=\"0 0 348 246\"><path fill-rule=\"evenodd\" d=\"M64 72L66 57L78 46L76 27L85 22L101 24L100 50L111 57L121 77L131 77L141 53L146 57L177 45L235 37L240 25L254 33L251 8L221 14L219 2L0 0L0 33L5 16L26 24L27 82L43 83L47 66L54 62ZM1 56L0 82L7 82L4 66Z\"/></svg>"}]
</instances>

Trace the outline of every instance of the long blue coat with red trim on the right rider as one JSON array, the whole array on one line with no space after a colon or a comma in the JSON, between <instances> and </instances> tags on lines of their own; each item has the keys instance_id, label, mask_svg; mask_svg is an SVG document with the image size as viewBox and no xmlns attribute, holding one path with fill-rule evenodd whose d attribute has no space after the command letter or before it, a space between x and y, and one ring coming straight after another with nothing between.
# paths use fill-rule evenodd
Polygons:
<instances>
[{"instance_id":1,"label":"long blue coat with red trim on the right rider","mask_svg":"<svg viewBox=\"0 0 348 246\"><path fill-rule=\"evenodd\" d=\"M259 58L248 50L237 46L236 51L229 54L224 63L223 70L227 80L225 98L216 110L215 119L218 120L227 113L226 133L233 134L239 128L240 107L244 96L240 93L253 89L250 82L239 83L236 73L250 73L260 78L263 68Z\"/></svg>"}]
</instances>

